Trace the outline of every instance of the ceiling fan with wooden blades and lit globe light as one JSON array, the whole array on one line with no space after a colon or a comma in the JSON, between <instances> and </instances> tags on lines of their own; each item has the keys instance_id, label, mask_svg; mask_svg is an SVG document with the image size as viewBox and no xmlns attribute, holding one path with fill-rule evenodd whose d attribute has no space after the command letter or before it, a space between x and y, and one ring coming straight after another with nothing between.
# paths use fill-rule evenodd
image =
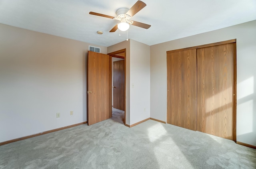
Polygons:
<instances>
[{"instance_id":1,"label":"ceiling fan with wooden blades and lit globe light","mask_svg":"<svg viewBox=\"0 0 256 169\"><path fill-rule=\"evenodd\" d=\"M138 26L140 28L148 29L150 28L151 25L144 24L141 22L136 22L136 21L129 21L132 16L134 16L137 12L142 10L146 4L140 0L138 0L132 8L120 8L116 11L116 17L113 16L108 16L104 14L99 14L96 12L89 12L91 15L96 15L96 16L102 16L105 18L110 18L114 20L119 20L120 23L116 24L114 28L112 28L109 32L115 32L117 29L120 29L120 31L126 31L130 28L130 25Z\"/></svg>"}]
</instances>

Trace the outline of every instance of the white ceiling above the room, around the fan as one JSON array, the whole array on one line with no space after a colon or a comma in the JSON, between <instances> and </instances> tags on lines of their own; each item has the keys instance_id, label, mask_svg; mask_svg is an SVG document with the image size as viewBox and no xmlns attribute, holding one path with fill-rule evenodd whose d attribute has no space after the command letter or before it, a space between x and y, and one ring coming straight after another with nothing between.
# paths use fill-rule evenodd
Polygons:
<instances>
[{"instance_id":1,"label":"white ceiling above the room, around the fan","mask_svg":"<svg viewBox=\"0 0 256 169\"><path fill-rule=\"evenodd\" d=\"M89 12L115 17L118 8L131 8L136 1L0 0L0 23L108 47L126 40L126 32L110 33L118 21ZM147 45L256 20L256 0L142 1L147 6L131 20L151 27L130 26L128 39Z\"/></svg>"}]
</instances>

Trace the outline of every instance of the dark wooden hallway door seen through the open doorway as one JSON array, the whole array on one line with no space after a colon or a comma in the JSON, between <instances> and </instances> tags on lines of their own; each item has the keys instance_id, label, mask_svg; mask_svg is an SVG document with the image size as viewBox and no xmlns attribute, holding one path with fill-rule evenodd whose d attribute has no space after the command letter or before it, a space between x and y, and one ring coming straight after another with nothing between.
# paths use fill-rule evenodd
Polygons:
<instances>
[{"instance_id":1,"label":"dark wooden hallway door seen through the open doorway","mask_svg":"<svg viewBox=\"0 0 256 169\"><path fill-rule=\"evenodd\" d=\"M113 107L124 110L124 60L113 62Z\"/></svg>"}]
</instances>

